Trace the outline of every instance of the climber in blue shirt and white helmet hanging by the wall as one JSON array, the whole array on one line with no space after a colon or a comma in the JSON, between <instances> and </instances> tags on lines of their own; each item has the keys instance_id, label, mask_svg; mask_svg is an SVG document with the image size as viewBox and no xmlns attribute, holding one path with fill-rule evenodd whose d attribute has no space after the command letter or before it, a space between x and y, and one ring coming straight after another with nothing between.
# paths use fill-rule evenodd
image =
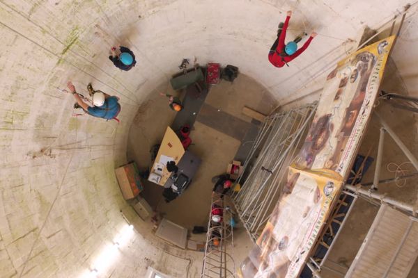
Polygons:
<instances>
[{"instance_id":1,"label":"climber in blue shirt and white helmet hanging by the wall","mask_svg":"<svg viewBox=\"0 0 418 278\"><path fill-rule=\"evenodd\" d=\"M92 95L93 107L86 104L83 101L82 97L75 90L75 86L71 81L67 83L68 89L74 96L77 103L74 105L75 108L83 108L83 110L93 117L101 117L106 120L116 119L116 116L121 111L121 104L119 104L119 98L114 96L109 96L101 91L95 91L91 87L91 84L88 84L87 90Z\"/></svg>"}]
</instances>

